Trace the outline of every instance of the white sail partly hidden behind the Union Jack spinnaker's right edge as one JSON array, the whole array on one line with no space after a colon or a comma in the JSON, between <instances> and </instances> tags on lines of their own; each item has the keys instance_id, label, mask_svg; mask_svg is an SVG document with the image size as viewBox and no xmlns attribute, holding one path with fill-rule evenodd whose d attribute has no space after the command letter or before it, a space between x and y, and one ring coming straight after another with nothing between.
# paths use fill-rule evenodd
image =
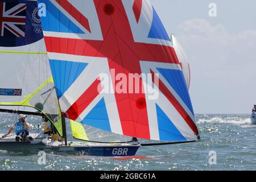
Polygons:
<instances>
[{"instance_id":1,"label":"white sail partly hidden behind the Union Jack spinnaker's right edge","mask_svg":"<svg viewBox=\"0 0 256 182\"><path fill-rule=\"evenodd\" d=\"M190 73L190 67L188 63L188 57L184 49L181 47L180 43L175 38L174 34L171 35L171 40L172 40L172 44L174 45L177 58L179 59L187 87L189 89L191 73Z\"/></svg>"}]
</instances>

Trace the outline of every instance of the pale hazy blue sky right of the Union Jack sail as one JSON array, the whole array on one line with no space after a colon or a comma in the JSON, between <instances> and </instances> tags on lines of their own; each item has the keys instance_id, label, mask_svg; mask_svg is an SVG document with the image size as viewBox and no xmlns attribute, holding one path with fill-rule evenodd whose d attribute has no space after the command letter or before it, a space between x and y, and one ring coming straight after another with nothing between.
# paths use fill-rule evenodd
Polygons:
<instances>
[{"instance_id":1,"label":"pale hazy blue sky right of the Union Jack sail","mask_svg":"<svg viewBox=\"0 0 256 182\"><path fill-rule=\"evenodd\" d=\"M191 64L195 113L250 113L256 104L255 0L151 0ZM217 17L210 17L216 3Z\"/></svg>"}]
</instances>

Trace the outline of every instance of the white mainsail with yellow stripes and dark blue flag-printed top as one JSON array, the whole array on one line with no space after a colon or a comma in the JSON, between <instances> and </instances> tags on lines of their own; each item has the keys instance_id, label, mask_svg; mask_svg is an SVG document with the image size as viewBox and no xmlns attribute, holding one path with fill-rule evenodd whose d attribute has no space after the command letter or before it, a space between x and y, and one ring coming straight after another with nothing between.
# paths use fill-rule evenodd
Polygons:
<instances>
[{"instance_id":1,"label":"white mainsail with yellow stripes and dark blue flag-printed top","mask_svg":"<svg viewBox=\"0 0 256 182\"><path fill-rule=\"evenodd\" d=\"M0 13L1 107L27 106L41 111L62 135L37 3L0 0Z\"/></svg>"}]
</instances>

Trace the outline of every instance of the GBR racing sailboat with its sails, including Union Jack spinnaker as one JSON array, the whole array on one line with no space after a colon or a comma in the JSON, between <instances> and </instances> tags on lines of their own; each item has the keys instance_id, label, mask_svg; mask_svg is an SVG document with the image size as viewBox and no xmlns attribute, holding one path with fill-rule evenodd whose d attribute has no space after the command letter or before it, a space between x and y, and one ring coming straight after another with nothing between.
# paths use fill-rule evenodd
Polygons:
<instances>
[{"instance_id":1,"label":"GBR racing sailboat with its sails, including Union Jack spinnaker","mask_svg":"<svg viewBox=\"0 0 256 182\"><path fill-rule=\"evenodd\" d=\"M0 150L132 156L200 140L187 76L150 1L1 0L1 8L15 22L1 27L0 111L44 116L62 139L7 136ZM68 121L82 141L67 140ZM84 126L131 139L96 141Z\"/></svg>"}]
</instances>

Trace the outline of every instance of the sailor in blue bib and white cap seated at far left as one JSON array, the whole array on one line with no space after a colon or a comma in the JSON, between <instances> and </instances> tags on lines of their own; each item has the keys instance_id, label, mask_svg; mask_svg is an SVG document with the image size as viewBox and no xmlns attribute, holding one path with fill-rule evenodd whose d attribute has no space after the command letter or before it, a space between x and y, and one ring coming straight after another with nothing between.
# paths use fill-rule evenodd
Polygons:
<instances>
[{"instance_id":1,"label":"sailor in blue bib and white cap seated at far left","mask_svg":"<svg viewBox=\"0 0 256 182\"><path fill-rule=\"evenodd\" d=\"M31 126L29 123L26 122L27 115L19 114L18 115L18 122L16 122L13 126L11 126L10 130L3 135L2 138L7 137L12 131L16 134L15 140L16 142L19 141L32 141L33 138L29 135L29 130Z\"/></svg>"}]
</instances>

